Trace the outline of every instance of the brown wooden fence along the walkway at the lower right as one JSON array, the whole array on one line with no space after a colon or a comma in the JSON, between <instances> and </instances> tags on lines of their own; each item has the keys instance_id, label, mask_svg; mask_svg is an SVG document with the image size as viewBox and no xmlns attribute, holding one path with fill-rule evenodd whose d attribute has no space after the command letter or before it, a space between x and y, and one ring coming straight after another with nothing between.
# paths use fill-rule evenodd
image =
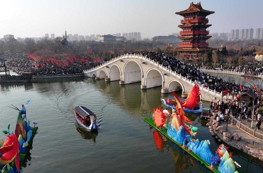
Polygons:
<instances>
[{"instance_id":1,"label":"brown wooden fence along the walkway at the lower right","mask_svg":"<svg viewBox=\"0 0 263 173\"><path fill-rule=\"evenodd\" d=\"M230 120L231 121L235 121L236 122L236 126L238 127L238 129L241 129L243 130L244 132L250 134L251 136L259 139L259 140L262 140L263 141L263 134L262 133L259 133L256 131L256 129L252 129L244 124L242 124L241 121L239 121L238 119L236 119L234 116L230 115Z\"/></svg>"}]
</instances>

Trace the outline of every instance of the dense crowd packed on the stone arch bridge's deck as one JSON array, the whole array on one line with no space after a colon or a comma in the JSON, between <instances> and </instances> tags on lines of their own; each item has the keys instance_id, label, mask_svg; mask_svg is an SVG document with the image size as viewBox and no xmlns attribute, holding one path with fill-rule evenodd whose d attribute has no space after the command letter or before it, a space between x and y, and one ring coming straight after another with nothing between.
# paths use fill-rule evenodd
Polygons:
<instances>
[{"instance_id":1,"label":"dense crowd packed on the stone arch bridge's deck","mask_svg":"<svg viewBox=\"0 0 263 173\"><path fill-rule=\"evenodd\" d=\"M204 73L202 70L198 69L196 64L186 64L184 61L180 61L177 58L164 53L152 51L132 52L132 54L134 53L142 54L143 56L162 64L164 67L175 71L177 74L181 74L181 76L184 76L189 80L191 79L199 85L203 85L207 88L209 87L211 90L216 90L217 92L229 90L229 92L232 92L233 94L240 94L249 90L255 90L254 88L247 86L241 86L240 89L240 84L224 81L222 78L217 78L212 74Z\"/></svg>"}]
</instances>

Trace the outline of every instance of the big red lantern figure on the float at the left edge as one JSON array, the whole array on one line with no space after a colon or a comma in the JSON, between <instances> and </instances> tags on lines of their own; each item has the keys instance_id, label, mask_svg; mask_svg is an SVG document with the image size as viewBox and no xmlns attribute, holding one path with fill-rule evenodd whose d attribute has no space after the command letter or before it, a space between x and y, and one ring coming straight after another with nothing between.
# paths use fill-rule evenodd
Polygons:
<instances>
[{"instance_id":1,"label":"big red lantern figure on the float at the left edge","mask_svg":"<svg viewBox=\"0 0 263 173\"><path fill-rule=\"evenodd\" d=\"M19 170L19 142L15 134L7 135L7 139L0 148L0 165L7 165L15 160L15 166Z\"/></svg>"}]
</instances>

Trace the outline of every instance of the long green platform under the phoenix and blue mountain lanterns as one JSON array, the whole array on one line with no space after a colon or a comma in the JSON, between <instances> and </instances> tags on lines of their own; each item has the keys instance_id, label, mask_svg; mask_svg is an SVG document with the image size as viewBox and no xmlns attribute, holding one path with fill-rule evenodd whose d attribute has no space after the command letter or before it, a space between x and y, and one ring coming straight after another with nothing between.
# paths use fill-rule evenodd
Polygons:
<instances>
[{"instance_id":1,"label":"long green platform under the phoenix and blue mountain lanterns","mask_svg":"<svg viewBox=\"0 0 263 173\"><path fill-rule=\"evenodd\" d=\"M149 125L151 125L153 128L155 128L158 132L160 132L161 134L165 135L168 139L170 139L171 141L173 141L175 144L177 144L178 146L180 146L180 148L182 148L184 151L186 151L188 154L190 154L191 156L193 156L196 160L198 160L202 165L204 165L205 167L207 167L210 171L215 172L215 173L220 173L217 168L219 167L219 165L213 165L215 167L215 169L211 169L209 166L211 166L209 163L205 162L203 159L200 158L200 156L198 156L197 154L195 154L193 151L187 151L188 147L186 146L186 148L183 148L183 144L178 143L177 141L173 140L171 137L169 137L166 132L167 132L167 128L159 128L156 127L156 125L154 124L154 120L152 118L143 118L144 121L146 121L146 123L148 123ZM236 169L239 173L244 173L238 169Z\"/></svg>"}]
</instances>

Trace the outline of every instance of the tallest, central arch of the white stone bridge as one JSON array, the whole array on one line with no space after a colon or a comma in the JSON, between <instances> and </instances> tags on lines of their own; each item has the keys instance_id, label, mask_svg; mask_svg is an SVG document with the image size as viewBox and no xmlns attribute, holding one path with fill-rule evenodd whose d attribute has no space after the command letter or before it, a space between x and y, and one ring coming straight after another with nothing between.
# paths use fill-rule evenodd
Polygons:
<instances>
[{"instance_id":1,"label":"tallest, central arch of the white stone bridge","mask_svg":"<svg viewBox=\"0 0 263 173\"><path fill-rule=\"evenodd\" d=\"M125 63L123 68L124 84L134 83L141 81L143 76L143 70L139 62L135 60L129 60Z\"/></svg>"}]
</instances>

